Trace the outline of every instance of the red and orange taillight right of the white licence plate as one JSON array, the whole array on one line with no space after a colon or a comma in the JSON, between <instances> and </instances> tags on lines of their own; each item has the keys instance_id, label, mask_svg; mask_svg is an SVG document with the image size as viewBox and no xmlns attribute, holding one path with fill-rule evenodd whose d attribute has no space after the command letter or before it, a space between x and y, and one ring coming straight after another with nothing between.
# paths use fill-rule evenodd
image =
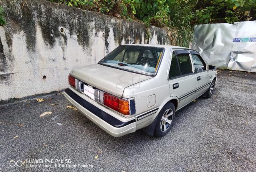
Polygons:
<instances>
[{"instance_id":1,"label":"red and orange taillight right of the white licence plate","mask_svg":"<svg viewBox=\"0 0 256 172\"><path fill-rule=\"evenodd\" d=\"M103 94L103 104L114 109L124 115L130 115L130 106L128 100L117 98L108 93Z\"/></svg>"}]
</instances>

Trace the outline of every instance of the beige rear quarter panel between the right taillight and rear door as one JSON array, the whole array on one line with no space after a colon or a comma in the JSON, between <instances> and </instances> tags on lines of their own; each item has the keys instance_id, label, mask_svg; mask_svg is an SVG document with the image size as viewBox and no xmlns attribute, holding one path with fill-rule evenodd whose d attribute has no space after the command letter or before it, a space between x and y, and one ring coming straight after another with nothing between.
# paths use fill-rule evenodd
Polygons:
<instances>
[{"instance_id":1,"label":"beige rear quarter panel between the right taillight and rear door","mask_svg":"<svg viewBox=\"0 0 256 172\"><path fill-rule=\"evenodd\" d=\"M152 113L139 121L137 120L136 130L150 125L162 107L171 99L170 86L167 77L169 59L170 49L166 49L156 76L124 89L124 98L134 97L136 106L136 113L134 115L140 115L146 111L159 108L156 113ZM151 95L155 95L156 103L153 106L148 107L148 96ZM152 102L150 104L152 104Z\"/></svg>"}]
</instances>

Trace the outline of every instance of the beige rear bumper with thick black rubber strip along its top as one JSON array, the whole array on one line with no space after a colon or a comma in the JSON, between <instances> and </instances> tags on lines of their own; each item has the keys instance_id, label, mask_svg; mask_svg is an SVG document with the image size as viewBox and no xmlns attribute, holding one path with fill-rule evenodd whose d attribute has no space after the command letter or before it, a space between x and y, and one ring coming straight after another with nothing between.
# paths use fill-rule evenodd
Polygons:
<instances>
[{"instance_id":1,"label":"beige rear bumper with thick black rubber strip along its top","mask_svg":"<svg viewBox=\"0 0 256 172\"><path fill-rule=\"evenodd\" d=\"M117 119L104 110L98 108L96 106L98 104L97 102L90 100L90 98L88 98L88 101L85 100L70 88L64 90L64 96L88 119L114 137L120 137L136 131L135 119L121 121L120 119ZM94 104L89 101L93 101Z\"/></svg>"}]
</instances>

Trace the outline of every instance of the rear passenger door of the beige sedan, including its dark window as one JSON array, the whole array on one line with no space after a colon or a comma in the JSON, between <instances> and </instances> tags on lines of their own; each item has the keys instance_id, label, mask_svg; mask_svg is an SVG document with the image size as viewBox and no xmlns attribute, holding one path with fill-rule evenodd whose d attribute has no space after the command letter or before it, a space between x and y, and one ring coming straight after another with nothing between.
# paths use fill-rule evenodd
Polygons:
<instances>
[{"instance_id":1,"label":"rear passenger door of the beige sedan, including its dark window","mask_svg":"<svg viewBox=\"0 0 256 172\"><path fill-rule=\"evenodd\" d=\"M181 108L194 100L196 89L194 66L188 50L172 51L169 69L170 96L179 98Z\"/></svg>"}]
</instances>

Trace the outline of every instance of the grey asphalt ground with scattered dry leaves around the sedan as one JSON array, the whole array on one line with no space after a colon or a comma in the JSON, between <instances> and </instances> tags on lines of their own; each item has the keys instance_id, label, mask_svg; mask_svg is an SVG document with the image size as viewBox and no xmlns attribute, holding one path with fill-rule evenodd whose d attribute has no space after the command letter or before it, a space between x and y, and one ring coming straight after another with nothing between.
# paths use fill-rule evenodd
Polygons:
<instances>
[{"instance_id":1,"label":"grey asphalt ground with scattered dry leaves around the sedan","mask_svg":"<svg viewBox=\"0 0 256 172\"><path fill-rule=\"evenodd\" d=\"M114 138L78 111L66 109L70 104L61 93L44 102L2 105L0 171L256 171L256 74L218 70L218 76L212 98L198 98L178 111L162 138L141 130ZM39 117L45 111L52 114ZM58 164L56 159L70 159L76 167L9 165L26 159L53 159L41 163L51 166Z\"/></svg>"}]
</instances>

